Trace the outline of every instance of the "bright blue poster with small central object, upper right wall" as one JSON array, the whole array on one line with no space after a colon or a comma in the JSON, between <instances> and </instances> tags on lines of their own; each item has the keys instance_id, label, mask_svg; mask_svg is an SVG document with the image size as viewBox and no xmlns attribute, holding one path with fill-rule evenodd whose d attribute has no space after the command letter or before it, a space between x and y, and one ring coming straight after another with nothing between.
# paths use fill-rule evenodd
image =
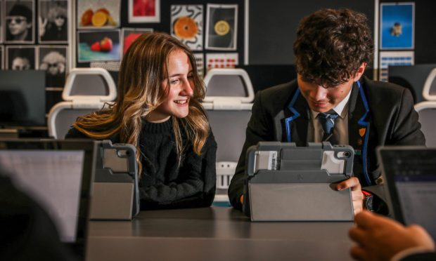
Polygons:
<instances>
[{"instance_id":1,"label":"bright blue poster with small central object, upper right wall","mask_svg":"<svg viewBox=\"0 0 436 261\"><path fill-rule=\"evenodd\" d=\"M380 6L380 49L413 49L415 4Z\"/></svg>"}]
</instances>

